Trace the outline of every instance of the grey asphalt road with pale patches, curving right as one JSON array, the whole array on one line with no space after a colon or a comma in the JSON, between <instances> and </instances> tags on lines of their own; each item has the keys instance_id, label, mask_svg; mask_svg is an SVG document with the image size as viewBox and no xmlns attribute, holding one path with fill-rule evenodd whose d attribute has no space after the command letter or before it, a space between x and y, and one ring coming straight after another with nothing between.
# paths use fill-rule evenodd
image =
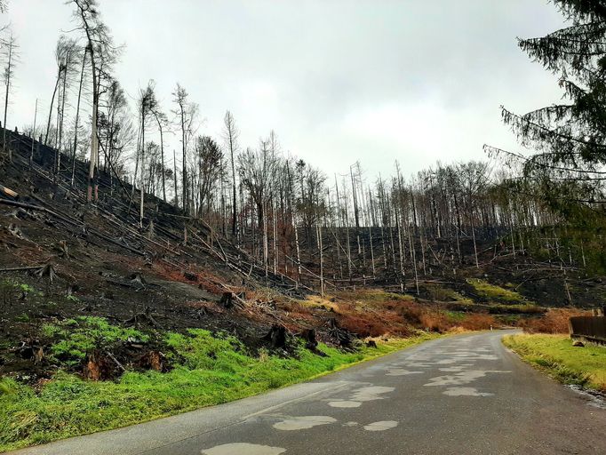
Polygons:
<instances>
[{"instance_id":1,"label":"grey asphalt road with pale patches, curving right","mask_svg":"<svg viewBox=\"0 0 606 455\"><path fill-rule=\"evenodd\" d=\"M502 335L438 339L266 395L19 453L606 453L606 409L522 363Z\"/></svg>"}]
</instances>

